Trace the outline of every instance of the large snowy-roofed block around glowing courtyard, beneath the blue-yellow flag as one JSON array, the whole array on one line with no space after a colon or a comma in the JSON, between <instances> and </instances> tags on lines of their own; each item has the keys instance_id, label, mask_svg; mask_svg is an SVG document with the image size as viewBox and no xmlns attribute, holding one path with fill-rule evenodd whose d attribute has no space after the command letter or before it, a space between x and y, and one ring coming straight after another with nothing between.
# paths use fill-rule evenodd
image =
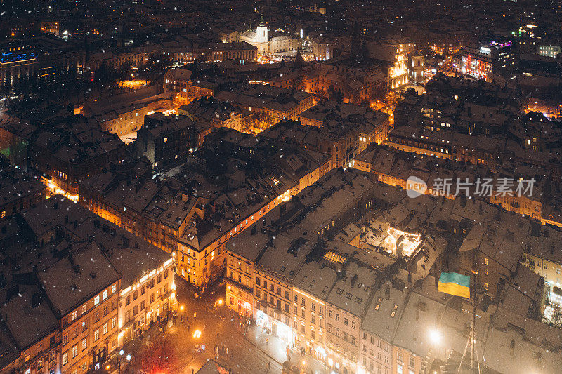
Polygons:
<instances>
[{"instance_id":1,"label":"large snowy-roofed block around glowing courtyard, beneath the blue-yellow flag","mask_svg":"<svg viewBox=\"0 0 562 374\"><path fill-rule=\"evenodd\" d=\"M375 251L378 247L370 245L371 230L381 231L373 220L363 229L348 224L376 217L396 227L431 227L431 232L462 239L457 271L471 273L476 259L478 276L473 282L485 289L484 304L478 302L478 345L486 331L495 330L492 325L506 326L519 318L539 323L540 276L529 276L519 262L525 248L542 242L545 235L537 229L540 226L529 218L499 212L484 201L462 204L444 196L420 197L424 199L421 203L404 199L405 192L396 187L370 189L370 178L364 177L359 171L332 171L318 187L301 192L299 201L280 204L265 221L255 222L229 241L227 306L259 321L285 341L290 333L290 347L324 360L336 372L421 374L443 365L451 349L462 355L471 306L439 293L436 279L429 275L434 266L441 266L439 257L447 241L424 231L419 253L406 259L407 267L415 272L407 271L392 253ZM348 181L346 193L363 196L357 206L343 203L349 196L329 193L332 188L341 192L339 183L344 180ZM365 190L359 192L361 189ZM356 214L344 213L348 208ZM417 219L419 214L426 222ZM490 224L495 220L497 225ZM455 225L461 221L471 224L465 228ZM478 232L482 227L485 232ZM518 227L519 232L508 232L510 227ZM292 289L287 288L287 280ZM504 301L497 304L494 300ZM495 313L496 308L500 314ZM436 329L446 336L439 345L432 338ZM516 335L502 333L497 339L507 345L513 339L520 345L525 340L521 334L525 335L523 330ZM544 348L542 354L546 354ZM502 360L507 361L486 366L495 370L511 363L513 356ZM529 365L535 367L535 363Z\"/></svg>"}]
</instances>

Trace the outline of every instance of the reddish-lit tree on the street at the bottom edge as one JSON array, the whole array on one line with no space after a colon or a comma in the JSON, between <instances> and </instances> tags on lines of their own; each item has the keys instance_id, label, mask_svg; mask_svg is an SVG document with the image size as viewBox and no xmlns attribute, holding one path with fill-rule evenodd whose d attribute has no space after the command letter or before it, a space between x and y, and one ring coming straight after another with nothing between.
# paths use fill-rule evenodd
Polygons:
<instances>
[{"instance_id":1,"label":"reddish-lit tree on the street at the bottom edge","mask_svg":"<svg viewBox=\"0 0 562 374\"><path fill-rule=\"evenodd\" d=\"M137 356L138 371L145 374L176 373L178 357L174 345L166 335L157 335L148 341Z\"/></svg>"}]
</instances>

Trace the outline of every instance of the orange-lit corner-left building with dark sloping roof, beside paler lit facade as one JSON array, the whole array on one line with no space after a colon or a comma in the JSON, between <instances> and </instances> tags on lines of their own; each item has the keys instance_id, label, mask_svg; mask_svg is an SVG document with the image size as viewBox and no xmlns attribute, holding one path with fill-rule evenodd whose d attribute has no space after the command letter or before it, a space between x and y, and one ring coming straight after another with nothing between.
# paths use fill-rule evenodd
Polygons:
<instances>
[{"instance_id":1,"label":"orange-lit corner-left building with dark sloping roof, beside paler lit facade","mask_svg":"<svg viewBox=\"0 0 562 374\"><path fill-rule=\"evenodd\" d=\"M63 372L98 370L117 348L121 275L93 243L38 276L48 300L60 314Z\"/></svg>"}]
</instances>

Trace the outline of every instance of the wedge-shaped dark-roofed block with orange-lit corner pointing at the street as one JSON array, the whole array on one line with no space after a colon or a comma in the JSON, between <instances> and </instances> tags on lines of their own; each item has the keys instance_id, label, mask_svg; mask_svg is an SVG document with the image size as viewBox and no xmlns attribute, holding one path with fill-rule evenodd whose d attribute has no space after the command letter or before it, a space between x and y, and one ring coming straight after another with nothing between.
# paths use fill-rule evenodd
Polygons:
<instances>
[{"instance_id":1,"label":"wedge-shaped dark-roofed block with orange-lit corner pointing at the street","mask_svg":"<svg viewBox=\"0 0 562 374\"><path fill-rule=\"evenodd\" d=\"M331 168L322 154L281 143L279 149L261 147L264 142L268 140L256 141L253 135L223 128L206 142L211 150L204 153L206 158L185 163L174 178L133 179L130 173L107 171L103 178L82 185L81 203L164 251L175 252L177 274L204 288L222 274L228 240ZM216 170L209 165L223 162L226 152L238 162L255 160L270 174L251 176L244 182L233 179L228 183L232 191L209 189L203 193L198 189L200 183L216 183ZM157 202L159 209L154 211Z\"/></svg>"}]
</instances>

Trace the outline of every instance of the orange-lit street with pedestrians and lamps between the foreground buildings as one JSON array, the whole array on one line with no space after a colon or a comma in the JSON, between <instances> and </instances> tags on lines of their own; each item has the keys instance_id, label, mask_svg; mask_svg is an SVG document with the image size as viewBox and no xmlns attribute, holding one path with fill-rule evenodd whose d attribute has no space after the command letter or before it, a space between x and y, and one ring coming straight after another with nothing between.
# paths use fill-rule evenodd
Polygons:
<instances>
[{"instance_id":1,"label":"orange-lit street with pedestrians and lamps between the foreground buildings","mask_svg":"<svg viewBox=\"0 0 562 374\"><path fill-rule=\"evenodd\" d=\"M282 363L287 360L286 342L263 333L259 327L241 327L241 319L225 305L223 283L217 282L202 297L195 297L182 279L176 278L176 287L178 305L183 310L178 310L176 325L165 333L176 349L179 373L197 373L209 359L231 369L233 374L282 372ZM201 333L198 338L194 337L197 330ZM132 342L124 356L131 354L134 359L138 347L146 344L151 334L159 334L159 330L152 328L142 340ZM303 373L327 373L319 361L296 352L290 352L289 357ZM122 369L126 373L126 366Z\"/></svg>"}]
</instances>

